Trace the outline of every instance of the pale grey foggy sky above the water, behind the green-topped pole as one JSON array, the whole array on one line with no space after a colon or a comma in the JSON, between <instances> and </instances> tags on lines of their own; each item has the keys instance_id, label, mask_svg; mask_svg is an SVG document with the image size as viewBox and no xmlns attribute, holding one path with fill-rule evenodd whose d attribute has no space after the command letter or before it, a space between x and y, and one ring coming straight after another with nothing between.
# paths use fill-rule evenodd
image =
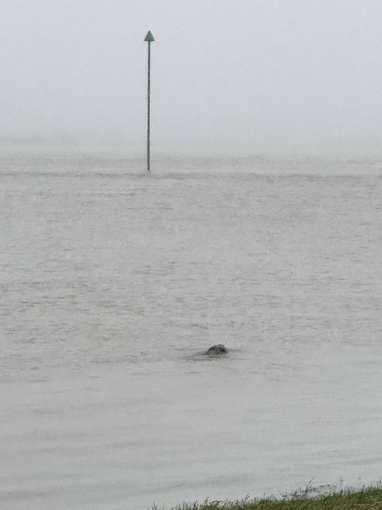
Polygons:
<instances>
[{"instance_id":1,"label":"pale grey foggy sky above the water, behind the green-topped pole","mask_svg":"<svg viewBox=\"0 0 382 510\"><path fill-rule=\"evenodd\" d=\"M380 0L2 0L0 136L160 152L382 137Z\"/></svg>"}]
</instances>

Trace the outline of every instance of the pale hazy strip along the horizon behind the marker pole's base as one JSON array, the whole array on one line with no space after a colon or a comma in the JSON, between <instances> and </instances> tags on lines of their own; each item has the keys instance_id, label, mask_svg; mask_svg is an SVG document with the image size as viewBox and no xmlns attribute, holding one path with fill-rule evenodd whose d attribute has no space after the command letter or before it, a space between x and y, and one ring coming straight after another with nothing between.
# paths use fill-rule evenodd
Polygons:
<instances>
[{"instance_id":1,"label":"pale hazy strip along the horizon behind the marker pole's base","mask_svg":"<svg viewBox=\"0 0 382 510\"><path fill-rule=\"evenodd\" d=\"M145 174L146 159L142 154L132 154L128 149L116 150L103 147L70 150L63 147L9 147L0 145L0 173L49 171L91 173ZM278 155L258 153L242 156L165 156L152 155L151 174L155 175L381 175L382 156L357 158L309 155Z\"/></svg>"}]
</instances>

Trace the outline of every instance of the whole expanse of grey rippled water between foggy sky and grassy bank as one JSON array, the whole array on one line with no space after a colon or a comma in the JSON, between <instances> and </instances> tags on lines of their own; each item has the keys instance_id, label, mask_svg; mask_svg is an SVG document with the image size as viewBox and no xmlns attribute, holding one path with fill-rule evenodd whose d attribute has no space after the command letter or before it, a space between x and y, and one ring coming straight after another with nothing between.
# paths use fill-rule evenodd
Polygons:
<instances>
[{"instance_id":1,"label":"whole expanse of grey rippled water between foggy sky and grassy bank","mask_svg":"<svg viewBox=\"0 0 382 510\"><path fill-rule=\"evenodd\" d=\"M380 479L380 162L0 164L4 510Z\"/></svg>"}]
</instances>

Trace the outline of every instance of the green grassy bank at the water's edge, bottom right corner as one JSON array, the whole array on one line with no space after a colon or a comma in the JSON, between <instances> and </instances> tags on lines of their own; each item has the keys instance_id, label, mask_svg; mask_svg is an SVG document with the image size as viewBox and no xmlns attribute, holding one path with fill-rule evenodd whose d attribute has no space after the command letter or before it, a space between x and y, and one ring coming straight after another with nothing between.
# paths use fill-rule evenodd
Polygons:
<instances>
[{"instance_id":1,"label":"green grassy bank at the water's edge, bottom right corner","mask_svg":"<svg viewBox=\"0 0 382 510\"><path fill-rule=\"evenodd\" d=\"M183 503L172 510L382 510L382 484L361 490L339 490L325 495L314 495L320 488L311 487L295 491L283 498L251 499L239 501L204 501ZM161 510L156 505L152 510Z\"/></svg>"}]
</instances>

